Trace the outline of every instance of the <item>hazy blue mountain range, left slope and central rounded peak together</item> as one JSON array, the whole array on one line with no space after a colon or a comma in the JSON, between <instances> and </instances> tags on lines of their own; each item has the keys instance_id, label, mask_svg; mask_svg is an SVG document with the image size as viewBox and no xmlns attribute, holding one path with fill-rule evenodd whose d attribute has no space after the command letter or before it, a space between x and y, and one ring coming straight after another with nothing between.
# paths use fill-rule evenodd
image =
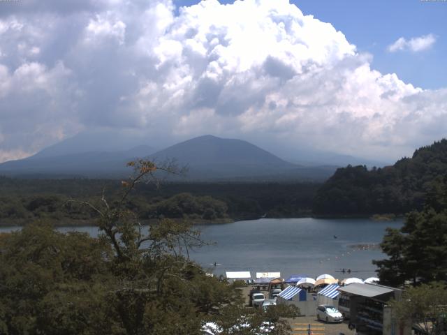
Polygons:
<instances>
[{"instance_id":1,"label":"hazy blue mountain range, left slope and central rounded peak together","mask_svg":"<svg viewBox=\"0 0 447 335\"><path fill-rule=\"evenodd\" d=\"M84 140L73 141L55 144L20 161L0 164L0 174L27 174L29 177L124 177L131 172L126 168L126 162L142 157L156 163L175 160L180 167L186 165L189 171L185 177L168 176L173 180L184 181L321 181L335 171L333 166L295 165L249 142L212 135L195 137L156 154L152 154L152 148L145 146L126 151L76 152L80 149L78 144ZM90 150L91 147L94 149L102 145L86 144L85 148ZM64 148L68 154L65 154Z\"/></svg>"}]
</instances>

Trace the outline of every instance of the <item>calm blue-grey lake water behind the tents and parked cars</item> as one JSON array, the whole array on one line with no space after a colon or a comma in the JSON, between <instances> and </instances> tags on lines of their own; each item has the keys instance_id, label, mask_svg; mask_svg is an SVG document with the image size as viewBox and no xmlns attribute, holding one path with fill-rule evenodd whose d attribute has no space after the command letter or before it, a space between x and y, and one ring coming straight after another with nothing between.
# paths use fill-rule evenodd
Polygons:
<instances>
[{"instance_id":1,"label":"calm blue-grey lake water behind the tents and parked cars","mask_svg":"<svg viewBox=\"0 0 447 335\"><path fill-rule=\"evenodd\" d=\"M193 251L191 258L217 275L225 271L251 271L254 277L256 272L280 271L283 278L291 274L367 278L376 276L371 261L385 255L377 248L362 250L353 246L379 244L387 227L400 228L402 224L402 220L381 222L365 218L263 218L198 225L203 239L215 243ZM13 229L18 228L3 227L0 232ZM93 226L58 229L98 234ZM342 274L341 269L352 272Z\"/></svg>"}]
</instances>

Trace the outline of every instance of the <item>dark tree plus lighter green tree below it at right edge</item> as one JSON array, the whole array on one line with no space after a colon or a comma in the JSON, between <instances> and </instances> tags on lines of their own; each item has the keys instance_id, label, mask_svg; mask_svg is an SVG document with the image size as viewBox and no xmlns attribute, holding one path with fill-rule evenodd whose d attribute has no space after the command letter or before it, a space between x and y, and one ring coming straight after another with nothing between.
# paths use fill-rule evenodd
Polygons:
<instances>
[{"instance_id":1,"label":"dark tree plus lighter green tree below it at right edge","mask_svg":"<svg viewBox=\"0 0 447 335\"><path fill-rule=\"evenodd\" d=\"M381 248L388 257L373 261L380 283L404 288L390 303L393 313L420 334L446 334L447 174L432 184L423 209L406 214L402 228L387 229Z\"/></svg>"}]
</instances>

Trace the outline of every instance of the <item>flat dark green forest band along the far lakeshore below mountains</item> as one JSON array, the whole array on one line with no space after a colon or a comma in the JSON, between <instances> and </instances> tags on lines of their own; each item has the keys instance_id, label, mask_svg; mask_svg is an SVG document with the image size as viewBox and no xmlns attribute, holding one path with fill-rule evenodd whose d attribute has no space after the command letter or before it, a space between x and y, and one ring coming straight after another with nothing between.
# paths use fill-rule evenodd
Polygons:
<instances>
[{"instance_id":1,"label":"flat dark green forest band along the far lakeshore below mountains","mask_svg":"<svg viewBox=\"0 0 447 335\"><path fill-rule=\"evenodd\" d=\"M129 200L140 220L188 219L223 223L261 216L311 215L314 183L141 184ZM25 225L47 219L54 225L88 224L94 211L79 202L97 202L102 193L115 199L122 187L112 179L15 179L0 177L0 224ZM115 199L116 200L116 199Z\"/></svg>"}]
</instances>

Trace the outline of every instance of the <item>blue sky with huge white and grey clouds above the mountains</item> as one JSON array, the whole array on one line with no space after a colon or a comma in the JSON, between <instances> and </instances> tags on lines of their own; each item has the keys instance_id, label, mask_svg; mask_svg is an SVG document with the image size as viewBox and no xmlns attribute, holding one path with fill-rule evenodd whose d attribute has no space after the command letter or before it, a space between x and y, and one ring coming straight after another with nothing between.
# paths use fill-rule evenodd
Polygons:
<instances>
[{"instance_id":1,"label":"blue sky with huge white and grey clouds above the mountains","mask_svg":"<svg viewBox=\"0 0 447 335\"><path fill-rule=\"evenodd\" d=\"M0 162L107 129L381 161L447 133L447 1L0 0Z\"/></svg>"}]
</instances>

